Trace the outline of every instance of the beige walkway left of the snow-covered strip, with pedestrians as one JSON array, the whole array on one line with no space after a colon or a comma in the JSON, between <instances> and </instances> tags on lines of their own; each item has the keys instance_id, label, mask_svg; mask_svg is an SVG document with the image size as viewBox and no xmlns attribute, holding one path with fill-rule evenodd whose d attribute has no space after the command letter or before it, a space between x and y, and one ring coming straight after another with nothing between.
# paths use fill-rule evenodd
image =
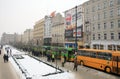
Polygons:
<instances>
[{"instance_id":1,"label":"beige walkway left of the snow-covered strip, with pedestrians","mask_svg":"<svg viewBox=\"0 0 120 79\"><path fill-rule=\"evenodd\" d=\"M20 79L12 64L8 61L4 63L4 50L2 49L0 55L0 79Z\"/></svg>"}]
</instances>

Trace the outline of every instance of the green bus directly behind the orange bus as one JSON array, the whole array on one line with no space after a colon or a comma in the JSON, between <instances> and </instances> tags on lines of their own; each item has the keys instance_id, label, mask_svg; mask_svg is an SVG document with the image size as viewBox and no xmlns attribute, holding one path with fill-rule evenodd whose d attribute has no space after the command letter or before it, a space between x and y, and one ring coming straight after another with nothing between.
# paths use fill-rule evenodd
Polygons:
<instances>
[{"instance_id":1,"label":"green bus directly behind the orange bus","mask_svg":"<svg viewBox=\"0 0 120 79\"><path fill-rule=\"evenodd\" d=\"M64 48L61 50L61 58L64 56L66 57L66 61L73 62L74 61L74 54L75 54L75 48Z\"/></svg>"}]
</instances>

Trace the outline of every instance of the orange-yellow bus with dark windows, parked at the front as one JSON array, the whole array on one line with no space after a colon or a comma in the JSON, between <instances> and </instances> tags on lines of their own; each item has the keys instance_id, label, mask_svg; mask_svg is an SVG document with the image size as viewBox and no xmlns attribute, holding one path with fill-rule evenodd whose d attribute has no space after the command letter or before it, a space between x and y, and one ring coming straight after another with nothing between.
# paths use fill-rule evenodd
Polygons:
<instances>
[{"instance_id":1,"label":"orange-yellow bus with dark windows, parked at the front","mask_svg":"<svg viewBox=\"0 0 120 79\"><path fill-rule=\"evenodd\" d=\"M108 73L120 75L120 52L97 49L79 49L77 62Z\"/></svg>"}]
</instances>

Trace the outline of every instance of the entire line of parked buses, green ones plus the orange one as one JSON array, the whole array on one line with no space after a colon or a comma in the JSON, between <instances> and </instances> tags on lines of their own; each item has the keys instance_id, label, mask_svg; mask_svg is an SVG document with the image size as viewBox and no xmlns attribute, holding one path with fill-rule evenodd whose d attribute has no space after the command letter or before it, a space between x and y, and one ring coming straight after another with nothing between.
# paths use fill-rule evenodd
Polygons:
<instances>
[{"instance_id":1,"label":"entire line of parked buses, green ones plus the orange one","mask_svg":"<svg viewBox=\"0 0 120 79\"><path fill-rule=\"evenodd\" d=\"M57 58L66 57L66 61L74 61L74 48L65 47L32 47L33 52L41 52L42 55L54 54ZM97 49L78 49L77 62L80 65L89 66L108 73L120 75L120 51L97 50Z\"/></svg>"}]
</instances>

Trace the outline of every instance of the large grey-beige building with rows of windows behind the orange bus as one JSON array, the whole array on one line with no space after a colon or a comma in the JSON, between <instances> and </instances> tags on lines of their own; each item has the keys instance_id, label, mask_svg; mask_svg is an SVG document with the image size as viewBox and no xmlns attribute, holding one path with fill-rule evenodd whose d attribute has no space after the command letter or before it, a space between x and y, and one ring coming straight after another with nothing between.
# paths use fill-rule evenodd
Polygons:
<instances>
[{"instance_id":1,"label":"large grey-beige building with rows of windows behind the orange bus","mask_svg":"<svg viewBox=\"0 0 120 79\"><path fill-rule=\"evenodd\" d=\"M89 0L83 6L86 44L120 50L120 0Z\"/></svg>"}]
</instances>

